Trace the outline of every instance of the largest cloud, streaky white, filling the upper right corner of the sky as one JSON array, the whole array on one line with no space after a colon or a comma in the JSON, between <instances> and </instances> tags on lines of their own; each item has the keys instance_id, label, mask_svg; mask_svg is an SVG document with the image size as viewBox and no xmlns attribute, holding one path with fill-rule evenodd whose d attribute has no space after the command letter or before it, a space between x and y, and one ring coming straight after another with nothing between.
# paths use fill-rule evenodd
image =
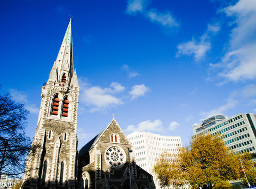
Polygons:
<instances>
[{"instance_id":1,"label":"largest cloud, streaky white, filling the upper right corner of the sky","mask_svg":"<svg viewBox=\"0 0 256 189\"><path fill-rule=\"evenodd\" d=\"M221 69L220 77L239 81L256 78L256 1L240 0L223 9L234 19L228 42L228 51L215 68ZM213 67L212 67L213 68ZM223 82L222 82L223 84Z\"/></svg>"}]
</instances>

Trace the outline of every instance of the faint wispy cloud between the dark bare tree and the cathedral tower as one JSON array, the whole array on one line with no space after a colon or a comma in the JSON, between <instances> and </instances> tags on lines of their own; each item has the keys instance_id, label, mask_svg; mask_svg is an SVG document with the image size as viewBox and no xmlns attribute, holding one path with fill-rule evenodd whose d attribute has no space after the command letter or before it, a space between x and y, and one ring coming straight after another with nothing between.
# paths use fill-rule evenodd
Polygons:
<instances>
[{"instance_id":1,"label":"faint wispy cloud between the dark bare tree and the cathedral tower","mask_svg":"<svg viewBox=\"0 0 256 189\"><path fill-rule=\"evenodd\" d=\"M25 104L25 108L31 113L31 114L37 114L39 112L39 108L37 108L36 104L31 104L28 101L28 96L23 91L18 91L16 89L10 89L10 94L12 96L12 99L16 102Z\"/></svg>"}]
</instances>

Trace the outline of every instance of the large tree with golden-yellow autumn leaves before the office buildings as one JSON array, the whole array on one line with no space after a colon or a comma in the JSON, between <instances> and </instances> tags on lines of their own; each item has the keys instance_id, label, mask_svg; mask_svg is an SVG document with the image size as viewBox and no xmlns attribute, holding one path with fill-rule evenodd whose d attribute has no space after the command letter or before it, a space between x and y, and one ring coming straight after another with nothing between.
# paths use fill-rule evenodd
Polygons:
<instances>
[{"instance_id":1,"label":"large tree with golden-yellow autumn leaves before the office buildings","mask_svg":"<svg viewBox=\"0 0 256 189\"><path fill-rule=\"evenodd\" d=\"M171 154L164 152L153 170L162 187L180 187L189 183L198 188L207 186L207 180L211 186L222 185L228 180L245 180L239 159L244 161L244 169L250 175L251 182L255 182L255 166L250 154L234 155L220 136L197 136L187 147L180 148L177 157L171 157Z\"/></svg>"}]
</instances>

